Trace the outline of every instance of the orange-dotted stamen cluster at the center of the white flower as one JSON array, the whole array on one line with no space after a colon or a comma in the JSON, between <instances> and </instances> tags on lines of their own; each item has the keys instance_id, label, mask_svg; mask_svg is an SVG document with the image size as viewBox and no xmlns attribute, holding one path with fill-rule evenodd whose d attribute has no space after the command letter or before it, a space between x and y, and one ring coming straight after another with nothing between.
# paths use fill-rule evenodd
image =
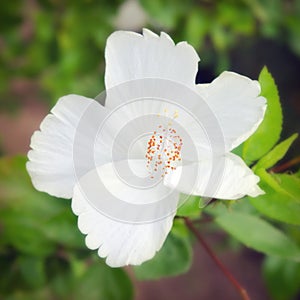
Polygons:
<instances>
[{"instance_id":1,"label":"orange-dotted stamen cluster at the center of the white flower","mask_svg":"<svg viewBox=\"0 0 300 300\"><path fill-rule=\"evenodd\" d=\"M163 178L171 170L176 170L176 166L181 161L182 138L176 130L162 125L153 132L146 152L147 169L151 178L158 173Z\"/></svg>"}]
</instances>

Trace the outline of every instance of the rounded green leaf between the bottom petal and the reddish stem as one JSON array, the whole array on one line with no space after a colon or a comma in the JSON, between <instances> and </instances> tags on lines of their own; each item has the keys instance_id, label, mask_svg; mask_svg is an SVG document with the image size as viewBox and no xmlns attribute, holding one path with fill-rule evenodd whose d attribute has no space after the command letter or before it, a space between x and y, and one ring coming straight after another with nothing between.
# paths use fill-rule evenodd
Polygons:
<instances>
[{"instance_id":1,"label":"rounded green leaf between the bottom petal and the reddish stem","mask_svg":"<svg viewBox=\"0 0 300 300\"><path fill-rule=\"evenodd\" d=\"M176 220L162 249L150 261L134 267L134 273L140 280L175 276L188 271L191 262L189 232L181 220Z\"/></svg>"}]
</instances>

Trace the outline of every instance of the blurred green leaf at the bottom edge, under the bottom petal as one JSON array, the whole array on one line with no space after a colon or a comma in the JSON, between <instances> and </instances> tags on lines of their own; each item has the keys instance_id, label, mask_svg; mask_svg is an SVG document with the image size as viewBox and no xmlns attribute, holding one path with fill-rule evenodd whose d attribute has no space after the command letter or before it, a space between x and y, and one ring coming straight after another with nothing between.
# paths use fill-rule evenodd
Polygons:
<instances>
[{"instance_id":1,"label":"blurred green leaf at the bottom edge, under the bottom petal","mask_svg":"<svg viewBox=\"0 0 300 300\"><path fill-rule=\"evenodd\" d=\"M122 269L113 269L101 262L89 266L73 289L74 300L130 300L133 299L131 282Z\"/></svg>"}]
</instances>

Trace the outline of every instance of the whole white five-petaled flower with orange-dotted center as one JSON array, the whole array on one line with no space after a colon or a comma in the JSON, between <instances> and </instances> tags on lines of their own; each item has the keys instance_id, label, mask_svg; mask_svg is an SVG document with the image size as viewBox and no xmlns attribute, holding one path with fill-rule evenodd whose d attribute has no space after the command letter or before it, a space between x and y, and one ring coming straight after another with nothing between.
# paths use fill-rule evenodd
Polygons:
<instances>
[{"instance_id":1,"label":"whole white five-petaled flower with orange-dotted center","mask_svg":"<svg viewBox=\"0 0 300 300\"><path fill-rule=\"evenodd\" d=\"M72 198L87 247L108 265L139 265L162 247L180 193L263 193L230 151L257 129L266 100L232 72L196 85L197 53L165 33L117 31L105 58L101 101L62 97L32 136L27 170L37 190Z\"/></svg>"}]
</instances>

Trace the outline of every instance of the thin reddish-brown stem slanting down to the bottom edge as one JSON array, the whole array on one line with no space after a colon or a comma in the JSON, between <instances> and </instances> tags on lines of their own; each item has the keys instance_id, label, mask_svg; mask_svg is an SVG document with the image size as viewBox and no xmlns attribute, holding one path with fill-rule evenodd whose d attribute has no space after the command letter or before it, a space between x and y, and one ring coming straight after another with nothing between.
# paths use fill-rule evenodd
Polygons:
<instances>
[{"instance_id":1,"label":"thin reddish-brown stem slanting down to the bottom edge","mask_svg":"<svg viewBox=\"0 0 300 300\"><path fill-rule=\"evenodd\" d=\"M218 266L218 268L224 273L224 275L228 278L228 280L232 283L232 285L240 293L242 299L250 300L250 297L249 297L247 291L240 285L240 283L234 278L234 276L230 273L230 271L223 265L223 263L214 254L214 252L211 250L209 245L205 242L205 240L202 238L202 236L198 232L197 228L194 226L193 222L187 217L183 217L183 219L185 221L186 226L190 229L191 232L193 232L193 234L195 235L197 240L203 246L203 248L208 253L208 255L212 258L212 260L215 262L215 264Z\"/></svg>"}]
</instances>

